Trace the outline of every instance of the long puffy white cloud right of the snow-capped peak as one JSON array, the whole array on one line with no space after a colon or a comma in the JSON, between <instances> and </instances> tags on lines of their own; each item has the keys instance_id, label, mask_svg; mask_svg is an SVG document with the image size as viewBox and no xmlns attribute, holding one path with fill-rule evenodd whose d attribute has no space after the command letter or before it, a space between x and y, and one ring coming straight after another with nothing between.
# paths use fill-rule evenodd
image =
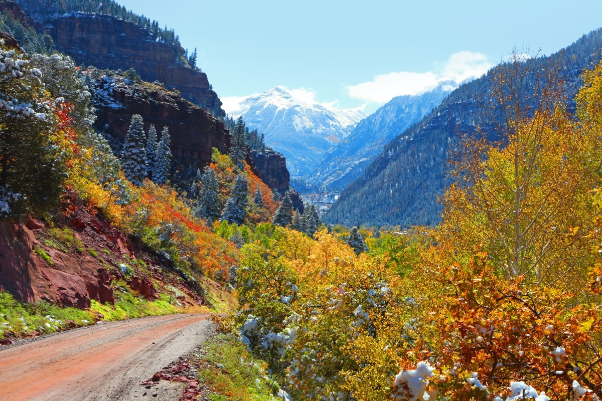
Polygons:
<instances>
[{"instance_id":1,"label":"long puffy white cloud right of the snow-capped peak","mask_svg":"<svg viewBox=\"0 0 602 401\"><path fill-rule=\"evenodd\" d=\"M372 81L347 87L347 93L354 99L385 103L395 96L423 93L442 81L459 83L478 78L489 68L491 63L484 54L462 51L450 55L444 63L435 63L433 71L402 71L377 75Z\"/></svg>"}]
</instances>

